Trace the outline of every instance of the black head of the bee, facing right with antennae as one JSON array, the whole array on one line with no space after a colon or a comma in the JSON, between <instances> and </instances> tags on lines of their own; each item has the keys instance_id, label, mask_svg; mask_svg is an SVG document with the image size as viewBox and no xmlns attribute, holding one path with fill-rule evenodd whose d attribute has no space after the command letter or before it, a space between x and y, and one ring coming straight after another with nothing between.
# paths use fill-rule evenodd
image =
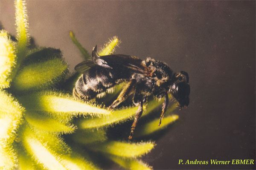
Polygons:
<instances>
[{"instance_id":1,"label":"black head of the bee, facing right with antennae","mask_svg":"<svg viewBox=\"0 0 256 170\"><path fill-rule=\"evenodd\" d=\"M180 71L174 75L174 82L169 86L169 92L179 102L180 108L189 105L189 74Z\"/></svg>"}]
</instances>

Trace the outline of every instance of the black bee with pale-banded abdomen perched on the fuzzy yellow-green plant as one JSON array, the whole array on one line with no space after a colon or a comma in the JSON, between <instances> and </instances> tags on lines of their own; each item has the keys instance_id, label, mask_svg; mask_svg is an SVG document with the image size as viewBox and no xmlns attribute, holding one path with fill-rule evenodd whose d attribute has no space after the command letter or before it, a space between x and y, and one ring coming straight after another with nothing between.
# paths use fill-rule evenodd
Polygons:
<instances>
[{"instance_id":1,"label":"black bee with pale-banded abdomen perched on the fuzzy yellow-green plant","mask_svg":"<svg viewBox=\"0 0 256 170\"><path fill-rule=\"evenodd\" d=\"M155 59L142 60L123 54L99 56L96 45L92 51L92 60L79 63L75 70L82 75L73 88L73 96L83 100L103 96L106 92L113 91L115 85L127 82L108 109L113 110L128 96L133 95L133 103L139 107L128 139L132 139L134 129L143 113L143 103L151 94L159 99L164 97L159 125L169 104L168 93L177 100L180 108L189 105L188 73L176 73L166 63Z\"/></svg>"}]
</instances>

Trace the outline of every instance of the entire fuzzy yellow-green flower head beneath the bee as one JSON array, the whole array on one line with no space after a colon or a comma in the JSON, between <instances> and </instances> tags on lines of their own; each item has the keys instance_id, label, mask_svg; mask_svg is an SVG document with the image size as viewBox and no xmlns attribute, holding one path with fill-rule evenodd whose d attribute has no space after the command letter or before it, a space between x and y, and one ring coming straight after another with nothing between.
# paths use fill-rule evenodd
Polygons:
<instances>
[{"instance_id":1,"label":"entire fuzzy yellow-green flower head beneath the bee","mask_svg":"<svg viewBox=\"0 0 256 170\"><path fill-rule=\"evenodd\" d=\"M100 169L93 154L125 169L152 169L138 158L150 152L155 142L127 142L127 136L114 138L109 130L113 126L122 130L122 123L133 118L137 107L109 111L97 100L84 102L71 96L80 75L67 77L68 66L60 50L28 48L25 1L16 0L15 7L17 42L12 42L6 31L0 31L0 169ZM72 31L70 37L84 59L89 59ZM119 43L113 37L99 54L112 54ZM115 89L104 97L105 101L113 100L122 84ZM138 128L135 140L178 119L177 115L167 116L162 126L157 126L158 120L150 115L160 105L161 102L151 100L143 106L143 117L150 121ZM175 105L167 114L174 109Z\"/></svg>"}]
</instances>

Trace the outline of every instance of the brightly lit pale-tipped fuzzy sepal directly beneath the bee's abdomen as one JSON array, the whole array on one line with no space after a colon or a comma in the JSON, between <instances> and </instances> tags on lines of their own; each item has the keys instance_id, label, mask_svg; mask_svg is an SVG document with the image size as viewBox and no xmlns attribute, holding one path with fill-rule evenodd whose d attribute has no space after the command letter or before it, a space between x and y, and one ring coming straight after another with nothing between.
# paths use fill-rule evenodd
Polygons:
<instances>
[{"instance_id":1,"label":"brightly lit pale-tipped fuzzy sepal directly beneath the bee's abdomen","mask_svg":"<svg viewBox=\"0 0 256 170\"><path fill-rule=\"evenodd\" d=\"M19 96L18 98L28 111L46 111L62 116L110 114L110 111L100 106L77 100L73 96L70 96L70 94L63 94L56 91L42 91Z\"/></svg>"}]
</instances>

